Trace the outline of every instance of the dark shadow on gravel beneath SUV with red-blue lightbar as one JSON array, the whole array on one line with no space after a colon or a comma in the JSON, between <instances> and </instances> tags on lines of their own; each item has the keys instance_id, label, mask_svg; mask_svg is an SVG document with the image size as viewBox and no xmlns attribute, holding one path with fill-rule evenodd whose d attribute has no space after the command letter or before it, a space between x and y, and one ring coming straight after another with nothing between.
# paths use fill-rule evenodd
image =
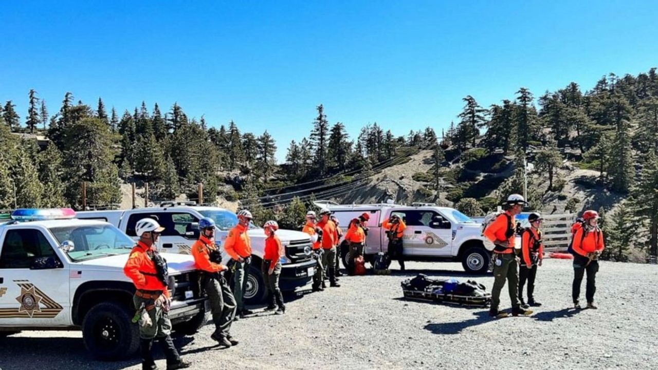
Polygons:
<instances>
[{"instance_id":1,"label":"dark shadow on gravel beneath SUV with red-blue lightbar","mask_svg":"<svg viewBox=\"0 0 658 370\"><path fill-rule=\"evenodd\" d=\"M176 348L182 351L182 348L190 344L193 338L186 336L173 340ZM8 336L0 340L0 348L3 348L0 362L5 369L25 369L28 362L30 367L41 369L104 370L125 369L141 363L139 354L122 361L97 361L87 352L82 338ZM155 359L165 358L157 342L153 344L153 356Z\"/></svg>"}]
</instances>

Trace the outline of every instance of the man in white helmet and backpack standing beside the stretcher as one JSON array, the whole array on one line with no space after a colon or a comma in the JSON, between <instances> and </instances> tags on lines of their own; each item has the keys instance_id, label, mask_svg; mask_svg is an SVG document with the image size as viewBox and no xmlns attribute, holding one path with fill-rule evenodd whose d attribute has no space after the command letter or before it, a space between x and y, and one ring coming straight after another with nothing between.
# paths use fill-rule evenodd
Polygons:
<instances>
[{"instance_id":1,"label":"man in white helmet and backpack standing beside the stretcher","mask_svg":"<svg viewBox=\"0 0 658 370\"><path fill-rule=\"evenodd\" d=\"M515 216L521 213L525 199L519 194L512 194L505 202L505 212L501 213L484 230L484 237L495 244L493 249L493 288L492 305L489 315L492 317L507 317L507 313L499 311L500 292L507 281L509 298L512 302L512 315L530 315L532 311L521 307L519 302L519 261L515 254L516 236Z\"/></svg>"}]
</instances>

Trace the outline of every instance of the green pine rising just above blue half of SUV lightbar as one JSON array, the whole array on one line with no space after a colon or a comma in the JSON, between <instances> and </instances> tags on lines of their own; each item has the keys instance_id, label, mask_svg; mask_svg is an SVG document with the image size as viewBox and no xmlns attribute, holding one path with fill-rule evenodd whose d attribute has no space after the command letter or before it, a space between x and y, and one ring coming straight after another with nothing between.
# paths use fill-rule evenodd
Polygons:
<instances>
[{"instance_id":1,"label":"green pine rising just above blue half of SUV lightbar","mask_svg":"<svg viewBox=\"0 0 658 370\"><path fill-rule=\"evenodd\" d=\"M11 170L15 186L16 205L24 208L41 207L43 185L32 158L26 151L16 151L16 161Z\"/></svg>"}]
</instances>

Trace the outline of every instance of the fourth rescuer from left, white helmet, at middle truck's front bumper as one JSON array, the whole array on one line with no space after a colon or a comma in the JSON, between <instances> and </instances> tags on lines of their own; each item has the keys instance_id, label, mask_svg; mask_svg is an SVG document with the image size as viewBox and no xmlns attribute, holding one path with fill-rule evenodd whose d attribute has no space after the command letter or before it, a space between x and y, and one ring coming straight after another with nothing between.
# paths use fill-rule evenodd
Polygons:
<instances>
[{"instance_id":1,"label":"fourth rescuer from left, white helmet, at middle truck's front bumper","mask_svg":"<svg viewBox=\"0 0 658 370\"><path fill-rule=\"evenodd\" d=\"M279 259L285 255L284 247L281 240L276 236L275 232L279 229L279 224L276 221L267 221L263 225L265 230L265 254L263 255L263 265L261 266L261 273L263 273L263 280L269 292L270 302L265 308L265 311L272 311L276 315L283 315L286 313L286 305L284 305L284 297L279 288L279 277L281 276L281 262ZM276 305L278 305L278 309Z\"/></svg>"}]
</instances>

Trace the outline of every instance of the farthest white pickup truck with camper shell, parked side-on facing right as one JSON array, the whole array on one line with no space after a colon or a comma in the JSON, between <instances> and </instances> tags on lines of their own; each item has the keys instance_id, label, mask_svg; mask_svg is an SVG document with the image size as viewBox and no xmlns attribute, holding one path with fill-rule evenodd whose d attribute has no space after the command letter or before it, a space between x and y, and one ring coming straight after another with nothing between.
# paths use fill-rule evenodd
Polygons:
<instances>
[{"instance_id":1,"label":"farthest white pickup truck with camper shell, parked side-on facing right","mask_svg":"<svg viewBox=\"0 0 658 370\"><path fill-rule=\"evenodd\" d=\"M459 261L465 271L486 273L491 253L484 248L482 224L467 215L448 207L434 205L356 204L339 205L328 201L316 201L315 205L332 211L345 230L349 221L363 213L370 215L367 223L365 257L372 260L380 251L388 250L388 237L382 222L391 215L405 221L403 236L405 259L409 261ZM346 263L347 246L341 246L343 264Z\"/></svg>"}]
</instances>

